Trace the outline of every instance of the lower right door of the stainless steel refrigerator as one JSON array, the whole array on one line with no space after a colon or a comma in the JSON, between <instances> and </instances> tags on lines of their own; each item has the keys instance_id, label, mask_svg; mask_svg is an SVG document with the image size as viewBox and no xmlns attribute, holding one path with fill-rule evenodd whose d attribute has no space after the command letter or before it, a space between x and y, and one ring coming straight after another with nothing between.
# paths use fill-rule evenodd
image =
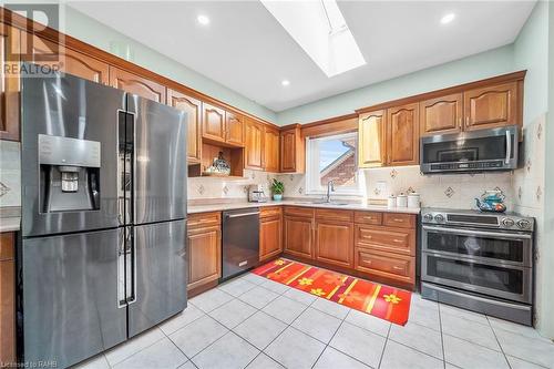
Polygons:
<instances>
[{"instance_id":1,"label":"lower right door of the stainless steel refrigerator","mask_svg":"<svg viewBox=\"0 0 554 369\"><path fill-rule=\"evenodd\" d=\"M186 221L134 226L134 300L129 336L140 334L186 307ZM133 283L133 278L127 278Z\"/></svg>"}]
</instances>

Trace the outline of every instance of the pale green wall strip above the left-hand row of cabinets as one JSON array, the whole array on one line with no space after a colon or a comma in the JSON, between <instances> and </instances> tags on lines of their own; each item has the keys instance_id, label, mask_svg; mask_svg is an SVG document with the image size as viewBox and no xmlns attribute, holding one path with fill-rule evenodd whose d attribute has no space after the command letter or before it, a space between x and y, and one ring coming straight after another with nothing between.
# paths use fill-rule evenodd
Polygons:
<instances>
[{"instance_id":1,"label":"pale green wall strip above the left-hand row of cabinets","mask_svg":"<svg viewBox=\"0 0 554 369\"><path fill-rule=\"evenodd\" d=\"M224 101L250 114L270 122L277 121L277 115L274 111L257 104L246 96L227 89L214 80L184 66L175 60L127 38L74 9L69 7L63 8L61 24L63 32L69 35Z\"/></svg>"}]
</instances>

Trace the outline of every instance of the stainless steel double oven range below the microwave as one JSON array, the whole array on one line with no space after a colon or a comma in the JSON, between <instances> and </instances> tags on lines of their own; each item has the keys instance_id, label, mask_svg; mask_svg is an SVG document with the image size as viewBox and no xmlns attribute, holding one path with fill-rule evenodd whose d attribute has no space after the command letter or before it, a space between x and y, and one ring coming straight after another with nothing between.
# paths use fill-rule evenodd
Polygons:
<instances>
[{"instance_id":1,"label":"stainless steel double oven range below the microwave","mask_svg":"<svg viewBox=\"0 0 554 369\"><path fill-rule=\"evenodd\" d=\"M421 295L531 326L534 219L424 208Z\"/></svg>"}]
</instances>

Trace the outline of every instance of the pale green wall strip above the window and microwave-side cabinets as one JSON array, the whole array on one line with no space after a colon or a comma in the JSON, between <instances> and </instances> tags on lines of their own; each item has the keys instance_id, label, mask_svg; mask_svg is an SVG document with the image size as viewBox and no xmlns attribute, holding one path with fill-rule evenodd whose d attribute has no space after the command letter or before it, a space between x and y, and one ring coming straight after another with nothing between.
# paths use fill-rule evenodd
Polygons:
<instances>
[{"instance_id":1,"label":"pale green wall strip above the window and microwave-side cabinets","mask_svg":"<svg viewBox=\"0 0 554 369\"><path fill-rule=\"evenodd\" d=\"M279 125L308 123L422 92L513 72L514 48L505 45L277 113Z\"/></svg>"}]
</instances>

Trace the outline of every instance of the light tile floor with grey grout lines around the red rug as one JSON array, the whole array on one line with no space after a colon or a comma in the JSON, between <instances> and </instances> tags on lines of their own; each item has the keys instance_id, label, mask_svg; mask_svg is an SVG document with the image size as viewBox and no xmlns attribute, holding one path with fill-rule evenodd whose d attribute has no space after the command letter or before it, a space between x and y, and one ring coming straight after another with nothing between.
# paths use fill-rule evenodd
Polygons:
<instances>
[{"instance_id":1,"label":"light tile floor with grey grout lines around the red rug","mask_svg":"<svg viewBox=\"0 0 554 369\"><path fill-rule=\"evenodd\" d=\"M533 328L412 295L404 326L253 274L80 368L554 368Z\"/></svg>"}]
</instances>

